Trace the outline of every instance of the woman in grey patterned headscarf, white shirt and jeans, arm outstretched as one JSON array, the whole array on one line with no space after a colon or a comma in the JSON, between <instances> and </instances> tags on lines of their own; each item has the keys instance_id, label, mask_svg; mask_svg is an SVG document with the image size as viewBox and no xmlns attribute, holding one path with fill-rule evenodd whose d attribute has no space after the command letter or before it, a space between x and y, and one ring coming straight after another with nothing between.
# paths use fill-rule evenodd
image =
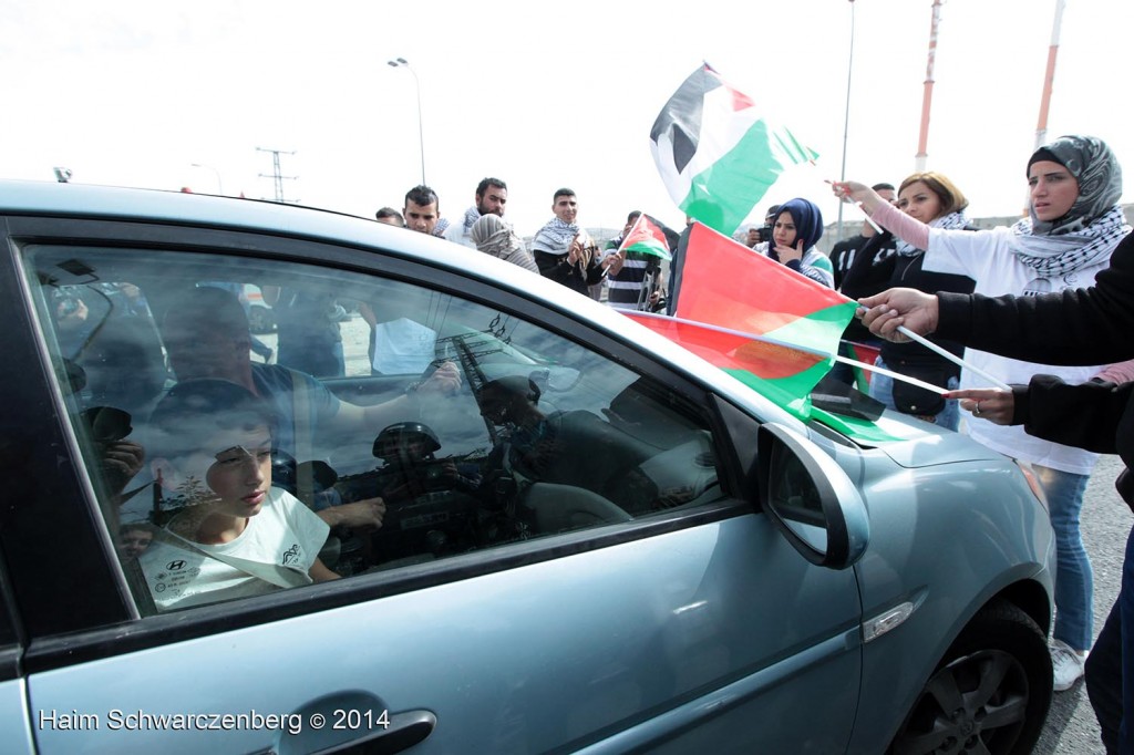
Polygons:
<instances>
[{"instance_id":1,"label":"woman in grey patterned headscarf, white shirt and jeans, arm outstretched","mask_svg":"<svg viewBox=\"0 0 1134 755\"><path fill-rule=\"evenodd\" d=\"M926 270L972 278L975 294L1034 296L1090 287L1131 230L1118 205L1118 161L1101 139L1061 136L1032 154L1026 175L1031 186L1029 217L1010 228L972 232L929 228L881 202L862 184L838 183L835 193L861 201L883 228L925 248ZM965 359L1008 383L1026 384L1039 373L1083 383L1102 370L1021 362L975 349L967 349ZM970 371L962 372L966 398L980 395L973 389L985 385ZM992 424L981 417L979 400L966 404L973 412L968 434L989 448L1031 461L1047 493L1058 560L1051 659L1056 689L1067 689L1082 676L1091 646L1091 562L1080 536L1078 512L1097 456L1040 440L1021 426Z\"/></svg>"}]
</instances>

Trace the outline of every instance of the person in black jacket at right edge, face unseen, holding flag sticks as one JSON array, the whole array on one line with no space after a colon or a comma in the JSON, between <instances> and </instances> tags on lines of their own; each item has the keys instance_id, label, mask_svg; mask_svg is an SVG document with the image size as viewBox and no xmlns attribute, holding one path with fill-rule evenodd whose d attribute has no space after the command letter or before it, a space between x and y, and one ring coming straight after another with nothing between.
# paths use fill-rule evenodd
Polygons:
<instances>
[{"instance_id":1,"label":"person in black jacket at right edge, face unseen, holding flag sticks","mask_svg":"<svg viewBox=\"0 0 1134 755\"><path fill-rule=\"evenodd\" d=\"M1115 249L1094 286L1036 297L922 294L896 288L861 299L871 332L906 340L904 325L1016 359L1090 365L1134 357L1134 235ZM1117 453L1118 493L1134 509L1134 383L1067 385L1036 375L1013 388L1013 424L1039 438ZM982 414L981 401L968 408ZM1086 689L1108 753L1134 754L1134 531L1122 588L1086 661ZM1125 690L1125 692L1124 692Z\"/></svg>"}]
</instances>

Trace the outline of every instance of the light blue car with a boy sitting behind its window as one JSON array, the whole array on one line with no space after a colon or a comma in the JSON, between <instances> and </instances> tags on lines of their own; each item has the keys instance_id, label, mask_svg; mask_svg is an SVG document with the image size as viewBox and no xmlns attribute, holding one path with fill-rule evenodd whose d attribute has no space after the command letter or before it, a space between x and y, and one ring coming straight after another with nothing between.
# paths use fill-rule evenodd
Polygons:
<instances>
[{"instance_id":1,"label":"light blue car with a boy sitting behind its window","mask_svg":"<svg viewBox=\"0 0 1134 755\"><path fill-rule=\"evenodd\" d=\"M601 304L358 218L0 184L0 223L8 753L1039 735L1048 516L964 436L803 423ZM247 286L271 364L218 314ZM210 380L272 407L270 455L169 433L158 409ZM201 524L229 463L269 478L235 540ZM284 506L319 542L281 586L231 549Z\"/></svg>"}]
</instances>

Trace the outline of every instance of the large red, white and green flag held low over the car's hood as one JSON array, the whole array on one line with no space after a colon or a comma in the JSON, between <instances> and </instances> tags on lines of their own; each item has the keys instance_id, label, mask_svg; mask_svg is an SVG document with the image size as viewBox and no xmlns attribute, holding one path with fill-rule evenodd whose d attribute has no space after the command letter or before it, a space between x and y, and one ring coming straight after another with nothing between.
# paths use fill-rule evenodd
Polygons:
<instances>
[{"instance_id":1,"label":"large red, white and green flag held low over the car's hood","mask_svg":"<svg viewBox=\"0 0 1134 755\"><path fill-rule=\"evenodd\" d=\"M753 341L734 343L723 351L733 362L713 363L729 372L747 370L772 383L777 393L787 398L787 402L777 402L792 405L801 416L807 416L807 396L833 364L839 339L857 306L835 289L701 223L689 229L674 314Z\"/></svg>"}]
</instances>

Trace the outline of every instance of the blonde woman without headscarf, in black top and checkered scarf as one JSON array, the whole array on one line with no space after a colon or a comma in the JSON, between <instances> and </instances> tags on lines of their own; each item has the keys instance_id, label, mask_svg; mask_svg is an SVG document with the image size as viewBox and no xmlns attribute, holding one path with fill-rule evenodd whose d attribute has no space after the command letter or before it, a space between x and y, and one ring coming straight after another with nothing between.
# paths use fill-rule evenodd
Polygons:
<instances>
[{"instance_id":1,"label":"blonde woman without headscarf, in black top and checkered scarf","mask_svg":"<svg viewBox=\"0 0 1134 755\"><path fill-rule=\"evenodd\" d=\"M897 205L902 212L930 228L968 227L968 219L965 217L968 200L941 173L919 172L906 178L898 187ZM922 248L897 239L895 254L881 262L866 255L856 258L847 271L844 283L854 287L861 278L887 274L889 282L882 288L906 286L920 291L973 292L971 278L925 270L924 257ZM948 341L938 342L938 346L957 356L964 351L963 347ZM874 364L942 388L954 389L960 383L960 367L921 343L883 341L881 355ZM891 409L919 416L948 430L956 430L960 424L960 409L956 400L946 400L938 393L895 381L889 375L875 373L871 376L870 395Z\"/></svg>"}]
</instances>

